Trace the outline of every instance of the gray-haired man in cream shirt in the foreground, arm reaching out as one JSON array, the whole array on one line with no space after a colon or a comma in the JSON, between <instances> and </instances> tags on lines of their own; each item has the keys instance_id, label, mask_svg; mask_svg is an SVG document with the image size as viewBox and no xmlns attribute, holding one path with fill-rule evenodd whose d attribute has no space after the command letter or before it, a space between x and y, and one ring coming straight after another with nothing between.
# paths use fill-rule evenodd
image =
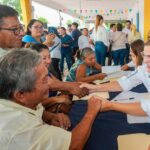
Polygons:
<instances>
[{"instance_id":1,"label":"gray-haired man in cream shirt in the foreground, arm reaching out","mask_svg":"<svg viewBox=\"0 0 150 150\"><path fill-rule=\"evenodd\" d=\"M72 130L43 122L41 102L48 97L48 71L40 55L28 49L8 52L0 60L0 149L83 149L101 102L91 98L82 121Z\"/></svg>"}]
</instances>

